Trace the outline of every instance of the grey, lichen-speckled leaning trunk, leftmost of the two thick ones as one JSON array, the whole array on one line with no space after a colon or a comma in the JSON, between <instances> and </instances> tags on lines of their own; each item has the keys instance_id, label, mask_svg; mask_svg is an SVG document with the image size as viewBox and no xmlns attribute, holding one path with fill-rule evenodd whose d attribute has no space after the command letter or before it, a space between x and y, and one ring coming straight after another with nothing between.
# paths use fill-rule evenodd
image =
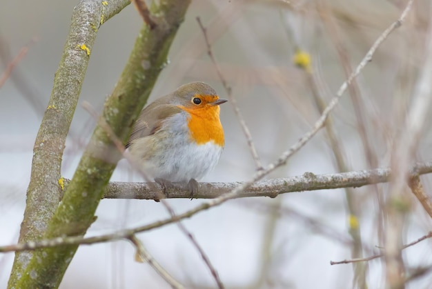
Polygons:
<instances>
[{"instance_id":1,"label":"grey, lichen-speckled leaning trunk, leftmost of the two thick ones","mask_svg":"<svg viewBox=\"0 0 432 289\"><path fill-rule=\"evenodd\" d=\"M32 172L19 241L39 239L59 204L61 188L57 180L61 176L61 157L97 29L101 19L108 20L130 2L110 3L103 6L99 1L80 1L72 14L50 101L33 148ZM31 252L15 255L9 287L14 287L19 276L23 275L30 257Z\"/></svg>"}]
</instances>

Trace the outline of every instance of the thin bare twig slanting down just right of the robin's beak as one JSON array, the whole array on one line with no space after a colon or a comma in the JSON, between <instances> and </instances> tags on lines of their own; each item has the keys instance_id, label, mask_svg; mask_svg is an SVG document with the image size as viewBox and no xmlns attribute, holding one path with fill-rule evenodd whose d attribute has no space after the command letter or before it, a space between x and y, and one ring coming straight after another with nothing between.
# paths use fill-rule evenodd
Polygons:
<instances>
[{"instance_id":1,"label":"thin bare twig slanting down just right of the robin's beak","mask_svg":"<svg viewBox=\"0 0 432 289\"><path fill-rule=\"evenodd\" d=\"M230 86L228 86L228 83L226 82L224 75L222 74L222 72L219 68L219 65L217 64L216 59L213 55L210 41L208 40L207 28L205 28L203 26L201 19L199 17L197 17L197 21L198 21L199 28L201 28L202 33L204 34L204 40L206 41L208 57L210 57L210 60L215 65L217 76L221 80L222 86L224 86L224 88L226 90L226 94L228 95L228 99L229 99L230 103L233 105L235 115L237 116L237 119L239 120L240 126L242 126L242 130L243 130L243 133L246 137L246 141L248 141L248 146L251 149L253 161L255 161L255 167L257 170L264 170L262 163L259 160L259 156L258 156L257 150L255 148L255 145L253 143L251 132L249 131L248 126L246 125L246 121L244 121L242 113L239 110L239 106L237 106L237 100L233 97L232 90L231 90Z\"/></svg>"}]
</instances>

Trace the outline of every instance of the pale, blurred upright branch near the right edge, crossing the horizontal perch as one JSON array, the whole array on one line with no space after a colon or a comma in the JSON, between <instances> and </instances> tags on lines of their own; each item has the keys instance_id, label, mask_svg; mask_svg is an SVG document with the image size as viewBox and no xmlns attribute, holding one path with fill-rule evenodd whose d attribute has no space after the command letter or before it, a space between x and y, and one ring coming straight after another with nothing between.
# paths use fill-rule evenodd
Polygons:
<instances>
[{"instance_id":1,"label":"pale, blurred upright branch near the right edge, crossing the horizontal perch","mask_svg":"<svg viewBox=\"0 0 432 289\"><path fill-rule=\"evenodd\" d=\"M408 2L404 13L413 4ZM404 128L395 140L395 148L391 155L392 177L389 186L389 198L386 203L388 212L385 260L386 286L388 288L404 288L404 263L400 249L402 248L402 232L406 212L410 203L406 196L406 181L409 179L409 166L415 159L424 123L432 102L432 23L429 24L429 39L426 43L424 66L420 71L417 85L412 98L412 105L405 119Z\"/></svg>"}]
</instances>

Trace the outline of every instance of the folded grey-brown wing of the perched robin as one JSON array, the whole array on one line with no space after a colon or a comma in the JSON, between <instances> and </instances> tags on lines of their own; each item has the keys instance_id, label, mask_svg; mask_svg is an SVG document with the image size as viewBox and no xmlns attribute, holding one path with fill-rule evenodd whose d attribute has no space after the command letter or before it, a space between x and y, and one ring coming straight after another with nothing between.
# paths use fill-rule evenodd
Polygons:
<instances>
[{"instance_id":1,"label":"folded grey-brown wing of the perched robin","mask_svg":"<svg viewBox=\"0 0 432 289\"><path fill-rule=\"evenodd\" d=\"M132 129L132 134L126 143L126 148L130 146L132 141L141 137L155 134L162 125L164 119L181 112L181 108L174 104L158 104L151 103L150 106L144 108L139 114L137 121Z\"/></svg>"}]
</instances>

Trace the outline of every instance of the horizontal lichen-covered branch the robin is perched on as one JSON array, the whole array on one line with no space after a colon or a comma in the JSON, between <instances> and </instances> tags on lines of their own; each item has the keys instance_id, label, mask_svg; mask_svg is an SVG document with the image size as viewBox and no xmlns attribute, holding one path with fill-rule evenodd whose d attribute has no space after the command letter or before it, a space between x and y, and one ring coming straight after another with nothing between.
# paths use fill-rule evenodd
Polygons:
<instances>
[{"instance_id":1,"label":"horizontal lichen-covered branch the robin is perched on","mask_svg":"<svg viewBox=\"0 0 432 289\"><path fill-rule=\"evenodd\" d=\"M411 169L411 177L432 172L432 161L417 163ZM335 188L358 188L374 183L389 181L391 170L377 168L374 170L358 170L353 172L340 172L336 174L314 175L305 172L302 176L267 179L258 181L248 189L239 192L236 196L242 197L277 197L287 192L302 192L304 190L328 190ZM67 183L67 182L66 182ZM220 197L234 188L241 186L242 182L233 183L199 183L199 190L194 194L195 199L214 199ZM155 191L154 188L160 188ZM104 195L105 199L160 199L161 186L157 183L126 183L112 181L108 184ZM190 192L181 188L167 188L168 198L189 198Z\"/></svg>"}]
</instances>

